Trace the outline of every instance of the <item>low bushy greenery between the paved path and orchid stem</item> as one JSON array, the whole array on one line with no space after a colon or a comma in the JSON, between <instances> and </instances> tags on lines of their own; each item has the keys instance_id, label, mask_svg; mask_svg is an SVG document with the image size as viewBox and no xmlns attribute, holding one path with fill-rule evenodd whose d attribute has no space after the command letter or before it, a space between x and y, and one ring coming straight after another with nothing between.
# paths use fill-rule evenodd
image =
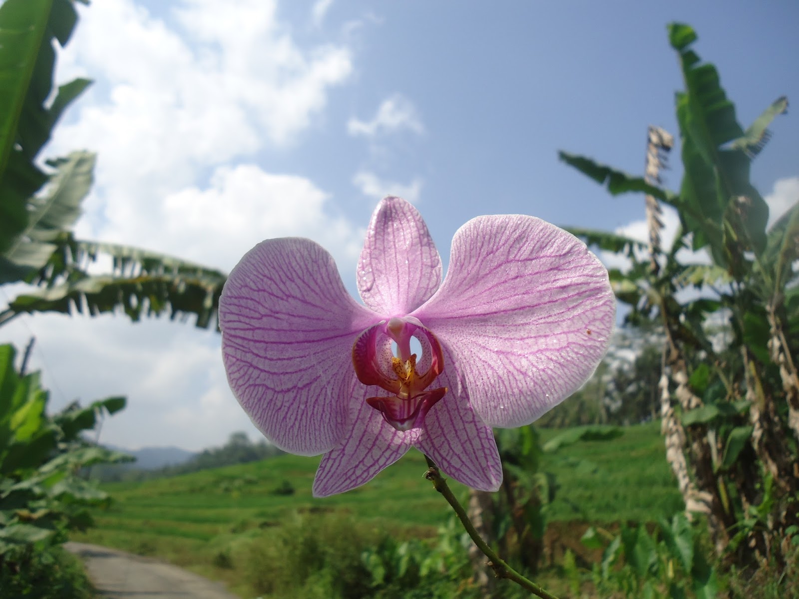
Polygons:
<instances>
[{"instance_id":1,"label":"low bushy greenery between the paved path and orchid stem","mask_svg":"<svg viewBox=\"0 0 799 599\"><path fill-rule=\"evenodd\" d=\"M346 514L295 514L280 530L241 544L232 561L244 563L251 592L276 599L477 599L470 542L454 517L435 538L401 541L386 530L352 526ZM516 596L503 590L502 597Z\"/></svg>"}]
</instances>

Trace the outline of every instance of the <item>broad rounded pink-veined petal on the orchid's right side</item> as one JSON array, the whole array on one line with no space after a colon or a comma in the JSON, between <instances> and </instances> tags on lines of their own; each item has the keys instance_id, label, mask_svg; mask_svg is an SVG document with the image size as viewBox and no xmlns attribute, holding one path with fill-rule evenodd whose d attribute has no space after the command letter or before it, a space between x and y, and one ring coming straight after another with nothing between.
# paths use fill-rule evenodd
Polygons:
<instances>
[{"instance_id":1,"label":"broad rounded pink-veined petal on the orchid's right side","mask_svg":"<svg viewBox=\"0 0 799 599\"><path fill-rule=\"evenodd\" d=\"M450 256L441 288L411 315L451 353L445 370L463 376L483 422L529 424L605 354L616 306L606 268L582 241L533 216L470 220Z\"/></svg>"}]
</instances>

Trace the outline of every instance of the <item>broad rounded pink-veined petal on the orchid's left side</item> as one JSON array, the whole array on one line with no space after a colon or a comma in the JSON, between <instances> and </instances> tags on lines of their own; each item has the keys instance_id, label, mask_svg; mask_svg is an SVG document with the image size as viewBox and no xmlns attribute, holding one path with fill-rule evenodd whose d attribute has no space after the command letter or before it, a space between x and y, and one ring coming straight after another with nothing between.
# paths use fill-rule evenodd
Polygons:
<instances>
[{"instance_id":1,"label":"broad rounded pink-veined petal on the orchid's left side","mask_svg":"<svg viewBox=\"0 0 799 599\"><path fill-rule=\"evenodd\" d=\"M332 256L311 240L266 240L230 273L219 300L233 395L266 438L292 454L348 434L352 342L377 316L348 295Z\"/></svg>"}]
</instances>

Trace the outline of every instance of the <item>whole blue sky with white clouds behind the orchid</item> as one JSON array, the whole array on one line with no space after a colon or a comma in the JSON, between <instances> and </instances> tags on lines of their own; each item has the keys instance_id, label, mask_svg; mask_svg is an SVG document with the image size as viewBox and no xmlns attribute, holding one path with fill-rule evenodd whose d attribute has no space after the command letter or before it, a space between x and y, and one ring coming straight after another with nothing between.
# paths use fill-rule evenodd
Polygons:
<instances>
[{"instance_id":1,"label":"whole blue sky with white clouds behind the orchid","mask_svg":"<svg viewBox=\"0 0 799 599\"><path fill-rule=\"evenodd\" d=\"M487 213L640 234L642 198L610 198L557 151L641 173L647 125L678 133L672 21L698 31L744 126L799 98L799 5L787 0L103 0L81 8L58 68L96 84L47 153L99 154L81 236L225 270L265 237L308 236L353 291L388 192L415 202L445 259L457 228ZM799 120L789 112L773 133L753 179L785 208L799 197ZM678 163L673 153L673 188ZM129 395L108 442L199 449L253 430L213 332L57 315L3 332L37 336L54 407Z\"/></svg>"}]
</instances>

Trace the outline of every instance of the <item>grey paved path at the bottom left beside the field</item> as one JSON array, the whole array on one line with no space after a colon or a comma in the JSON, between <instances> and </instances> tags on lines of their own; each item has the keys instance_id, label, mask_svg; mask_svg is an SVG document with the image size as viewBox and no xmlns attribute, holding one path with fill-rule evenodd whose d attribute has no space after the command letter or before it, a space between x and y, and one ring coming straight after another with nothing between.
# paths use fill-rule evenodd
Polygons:
<instances>
[{"instance_id":1,"label":"grey paved path at the bottom left beside the field","mask_svg":"<svg viewBox=\"0 0 799 599\"><path fill-rule=\"evenodd\" d=\"M64 547L85 561L94 586L108 599L237 599L221 582L117 549L88 543Z\"/></svg>"}]
</instances>

